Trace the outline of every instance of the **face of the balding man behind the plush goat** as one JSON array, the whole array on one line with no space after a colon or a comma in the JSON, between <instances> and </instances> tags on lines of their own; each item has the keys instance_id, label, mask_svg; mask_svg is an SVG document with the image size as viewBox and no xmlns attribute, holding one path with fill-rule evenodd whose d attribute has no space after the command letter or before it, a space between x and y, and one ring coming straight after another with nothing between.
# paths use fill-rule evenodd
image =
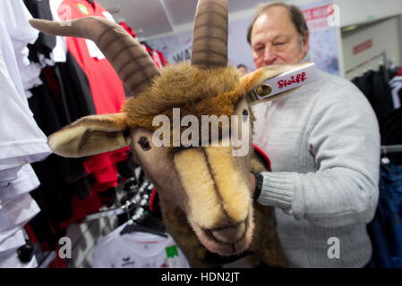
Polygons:
<instances>
[{"instance_id":1,"label":"face of the balding man behind the plush goat","mask_svg":"<svg viewBox=\"0 0 402 286\"><path fill-rule=\"evenodd\" d=\"M308 35L303 42L287 8L270 7L254 22L252 57L257 68L283 63L300 63L308 51Z\"/></svg>"}]
</instances>

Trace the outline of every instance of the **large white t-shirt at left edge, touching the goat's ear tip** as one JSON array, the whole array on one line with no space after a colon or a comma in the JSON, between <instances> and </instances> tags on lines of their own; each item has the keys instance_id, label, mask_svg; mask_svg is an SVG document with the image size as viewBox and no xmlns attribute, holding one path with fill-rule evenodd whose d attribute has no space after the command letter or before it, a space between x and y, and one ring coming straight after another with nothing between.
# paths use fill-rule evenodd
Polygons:
<instances>
[{"instance_id":1,"label":"large white t-shirt at left edge, touching the goat's ear tip","mask_svg":"<svg viewBox=\"0 0 402 286\"><path fill-rule=\"evenodd\" d=\"M51 150L23 94L13 45L0 21L0 171L43 160Z\"/></svg>"}]
</instances>

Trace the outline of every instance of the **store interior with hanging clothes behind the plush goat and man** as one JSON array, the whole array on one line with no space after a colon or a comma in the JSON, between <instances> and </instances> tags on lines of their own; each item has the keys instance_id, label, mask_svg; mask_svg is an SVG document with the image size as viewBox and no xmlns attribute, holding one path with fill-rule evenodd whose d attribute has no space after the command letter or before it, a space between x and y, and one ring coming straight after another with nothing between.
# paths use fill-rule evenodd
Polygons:
<instances>
[{"instance_id":1,"label":"store interior with hanging clothes behind the plush goat and man","mask_svg":"<svg viewBox=\"0 0 402 286\"><path fill-rule=\"evenodd\" d=\"M0 8L2 70L13 83L2 89L23 108L12 106L17 100L4 104L1 112L10 113L1 123L13 136L30 138L24 135L20 148L0 137L0 268L191 267L163 223L157 186L129 147L80 158L52 154L48 136L83 116L120 112L130 92L92 41L39 33L29 20L97 15L115 21L163 71L191 60L197 0L6 2ZM247 72L257 70L246 34L261 2L228 0L227 63ZM390 181L381 182L367 225L372 265L402 267L402 0L283 2L299 7L309 26L305 61L355 84L377 115L381 172L389 171ZM211 265L252 267L245 255L210 256Z\"/></svg>"}]
</instances>

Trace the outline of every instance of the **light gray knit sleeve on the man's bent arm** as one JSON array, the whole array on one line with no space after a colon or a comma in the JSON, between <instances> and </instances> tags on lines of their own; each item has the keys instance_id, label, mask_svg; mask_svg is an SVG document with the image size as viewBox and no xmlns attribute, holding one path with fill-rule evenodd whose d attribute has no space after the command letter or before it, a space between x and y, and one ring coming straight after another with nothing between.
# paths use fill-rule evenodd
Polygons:
<instances>
[{"instance_id":1,"label":"light gray knit sleeve on the man's bent arm","mask_svg":"<svg viewBox=\"0 0 402 286\"><path fill-rule=\"evenodd\" d=\"M369 223L379 191L380 132L372 106L352 84L326 88L312 108L304 144L316 172L263 172L261 205L321 227Z\"/></svg>"}]
</instances>

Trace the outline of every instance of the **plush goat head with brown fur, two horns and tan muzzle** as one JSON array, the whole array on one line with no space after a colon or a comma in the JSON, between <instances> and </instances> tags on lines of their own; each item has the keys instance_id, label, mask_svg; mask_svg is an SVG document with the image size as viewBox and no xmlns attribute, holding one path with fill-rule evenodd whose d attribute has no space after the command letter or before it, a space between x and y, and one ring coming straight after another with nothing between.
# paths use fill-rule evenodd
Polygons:
<instances>
[{"instance_id":1,"label":"plush goat head with brown fur, two horns and tan muzzle","mask_svg":"<svg viewBox=\"0 0 402 286\"><path fill-rule=\"evenodd\" d=\"M131 146L136 162L161 198L184 211L206 248L220 255L248 248L254 227L250 152L233 156L232 144L158 147L152 140L158 126L152 122L159 114L172 119L173 108L180 108L180 118L237 116L238 122L245 122L242 128L252 150L252 132L248 132L252 130L252 116L245 115L252 115L250 106L256 103L253 91L264 80L299 65L261 68L239 79L235 68L227 67L226 0L199 1L192 62L171 65L163 71L158 71L145 50L112 21L88 17L71 25L43 20L30 23L48 34L93 40L133 95L119 114L87 116L52 134L48 139L52 150L60 156L80 157ZM218 138L223 140L226 138Z\"/></svg>"}]
</instances>

